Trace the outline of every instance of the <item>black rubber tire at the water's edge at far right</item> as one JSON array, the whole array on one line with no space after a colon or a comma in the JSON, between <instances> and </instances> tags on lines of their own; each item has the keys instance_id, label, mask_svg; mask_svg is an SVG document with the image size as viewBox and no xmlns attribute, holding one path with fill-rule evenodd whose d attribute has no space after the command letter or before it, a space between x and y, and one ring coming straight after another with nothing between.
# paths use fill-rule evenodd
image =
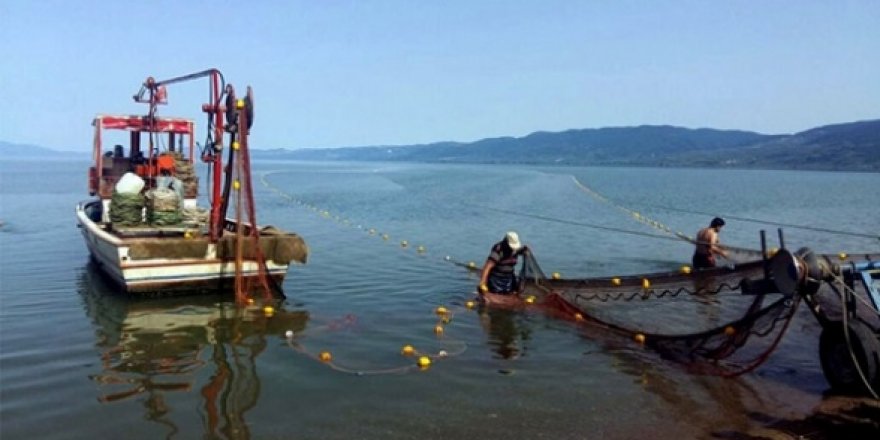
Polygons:
<instances>
[{"instance_id":1,"label":"black rubber tire at the water's edge at far right","mask_svg":"<svg viewBox=\"0 0 880 440\"><path fill-rule=\"evenodd\" d=\"M880 341L864 323L853 320L847 323L849 341L853 354L865 378L880 391ZM833 321L822 329L819 337L819 361L825 379L835 390L847 394L869 394L850 355L843 322Z\"/></svg>"}]
</instances>

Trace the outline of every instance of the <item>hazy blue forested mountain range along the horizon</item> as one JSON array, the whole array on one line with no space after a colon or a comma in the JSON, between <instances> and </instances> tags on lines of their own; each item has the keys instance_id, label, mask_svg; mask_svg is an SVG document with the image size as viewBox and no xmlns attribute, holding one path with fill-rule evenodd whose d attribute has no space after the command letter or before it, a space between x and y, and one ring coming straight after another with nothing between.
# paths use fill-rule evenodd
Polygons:
<instances>
[{"instance_id":1,"label":"hazy blue forested mountain range along the horizon","mask_svg":"<svg viewBox=\"0 0 880 440\"><path fill-rule=\"evenodd\" d=\"M65 156L0 142L0 157ZM421 145L252 151L254 159L409 161L589 166L763 168L880 172L880 120L790 135L643 125L535 132L524 137Z\"/></svg>"}]
</instances>

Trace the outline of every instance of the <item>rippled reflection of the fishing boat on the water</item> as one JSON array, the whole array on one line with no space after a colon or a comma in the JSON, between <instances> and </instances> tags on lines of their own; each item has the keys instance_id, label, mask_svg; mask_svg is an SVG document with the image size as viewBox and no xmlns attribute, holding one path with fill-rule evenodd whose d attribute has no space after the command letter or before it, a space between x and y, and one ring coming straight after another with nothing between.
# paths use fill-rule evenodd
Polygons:
<instances>
[{"instance_id":1,"label":"rippled reflection of the fishing boat on the water","mask_svg":"<svg viewBox=\"0 0 880 440\"><path fill-rule=\"evenodd\" d=\"M90 378L99 384L98 400L142 402L145 418L170 434L178 431L174 408L185 406L166 400L198 398L195 418L206 437L247 438L244 417L261 389L257 356L270 338L303 331L309 319L305 311L280 308L266 316L220 296L121 297L93 264L84 267L79 291L97 328L101 371Z\"/></svg>"}]
</instances>

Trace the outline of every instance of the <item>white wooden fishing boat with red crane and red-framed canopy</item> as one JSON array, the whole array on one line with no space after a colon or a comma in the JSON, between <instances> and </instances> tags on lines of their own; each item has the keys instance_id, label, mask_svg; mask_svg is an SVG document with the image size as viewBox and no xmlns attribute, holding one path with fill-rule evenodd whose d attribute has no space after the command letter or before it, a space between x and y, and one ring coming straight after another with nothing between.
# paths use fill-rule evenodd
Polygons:
<instances>
[{"instance_id":1,"label":"white wooden fishing boat with red crane and red-framed canopy","mask_svg":"<svg viewBox=\"0 0 880 440\"><path fill-rule=\"evenodd\" d=\"M206 141L197 155L194 121L160 117L157 109L167 104L167 86L199 78L209 80L210 91L202 105ZM257 224L248 150L250 87L236 99L220 71L209 69L164 81L147 78L134 100L148 105L146 115L98 115L92 122L88 190L94 198L76 206L91 259L126 292L235 286L238 295L261 284L280 293L290 264L306 262L308 246L297 234ZM111 134L127 147L106 148ZM197 162L208 168L206 207L199 205Z\"/></svg>"}]
</instances>

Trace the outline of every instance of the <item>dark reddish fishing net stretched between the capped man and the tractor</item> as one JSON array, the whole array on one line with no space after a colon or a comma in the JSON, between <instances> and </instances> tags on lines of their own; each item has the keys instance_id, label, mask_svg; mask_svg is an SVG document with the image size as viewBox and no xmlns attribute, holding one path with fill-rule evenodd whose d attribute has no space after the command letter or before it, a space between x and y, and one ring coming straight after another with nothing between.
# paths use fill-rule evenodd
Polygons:
<instances>
[{"instance_id":1,"label":"dark reddish fishing net stretched between the capped man and the tractor","mask_svg":"<svg viewBox=\"0 0 880 440\"><path fill-rule=\"evenodd\" d=\"M697 373L736 376L760 365L782 338L799 297L754 293L762 261L693 273L554 279L528 255L525 293L545 307L651 348Z\"/></svg>"}]
</instances>

